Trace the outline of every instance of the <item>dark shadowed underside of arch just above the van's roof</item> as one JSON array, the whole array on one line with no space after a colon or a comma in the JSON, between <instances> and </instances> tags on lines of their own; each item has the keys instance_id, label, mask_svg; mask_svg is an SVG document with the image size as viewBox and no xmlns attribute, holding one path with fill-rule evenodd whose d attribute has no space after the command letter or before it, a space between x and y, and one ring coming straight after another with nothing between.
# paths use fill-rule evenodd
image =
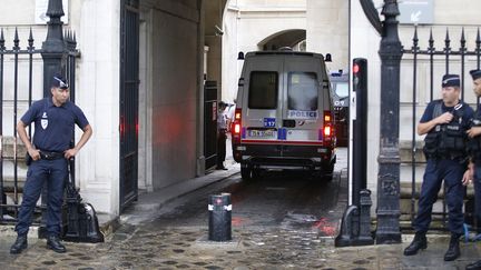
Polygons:
<instances>
[{"instance_id":1,"label":"dark shadowed underside of arch just above the van's roof","mask_svg":"<svg viewBox=\"0 0 481 270\"><path fill-rule=\"evenodd\" d=\"M306 30L292 29L276 32L258 43L264 50L276 50L281 47L294 47L306 39Z\"/></svg>"}]
</instances>

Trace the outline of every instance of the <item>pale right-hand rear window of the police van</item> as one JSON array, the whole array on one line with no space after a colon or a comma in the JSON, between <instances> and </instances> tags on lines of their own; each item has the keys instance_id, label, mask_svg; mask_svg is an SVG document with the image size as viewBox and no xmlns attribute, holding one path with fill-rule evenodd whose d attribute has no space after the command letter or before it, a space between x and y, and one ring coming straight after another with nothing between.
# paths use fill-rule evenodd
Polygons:
<instances>
[{"instance_id":1,"label":"pale right-hand rear window of the police van","mask_svg":"<svg viewBox=\"0 0 481 270\"><path fill-rule=\"evenodd\" d=\"M287 108L298 111L317 110L317 76L314 72L289 72Z\"/></svg>"}]
</instances>

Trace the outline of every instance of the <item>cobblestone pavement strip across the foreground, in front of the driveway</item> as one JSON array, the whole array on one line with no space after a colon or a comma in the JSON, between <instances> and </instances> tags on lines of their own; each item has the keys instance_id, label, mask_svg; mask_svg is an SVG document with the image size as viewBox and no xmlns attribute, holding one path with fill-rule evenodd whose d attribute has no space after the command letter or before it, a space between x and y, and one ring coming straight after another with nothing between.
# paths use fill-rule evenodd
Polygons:
<instances>
[{"instance_id":1,"label":"cobblestone pavement strip across the foreground, in front of the driveway","mask_svg":"<svg viewBox=\"0 0 481 270\"><path fill-rule=\"evenodd\" d=\"M463 256L443 262L446 238L430 239L430 247L403 257L404 244L334 248L318 231L249 228L233 231L233 241L206 241L206 228L125 226L105 243L69 243L67 253L30 244L20 256L4 256L1 269L463 269L479 253L462 243ZM11 239L13 240L13 238ZM404 239L408 242L410 239Z\"/></svg>"}]
</instances>

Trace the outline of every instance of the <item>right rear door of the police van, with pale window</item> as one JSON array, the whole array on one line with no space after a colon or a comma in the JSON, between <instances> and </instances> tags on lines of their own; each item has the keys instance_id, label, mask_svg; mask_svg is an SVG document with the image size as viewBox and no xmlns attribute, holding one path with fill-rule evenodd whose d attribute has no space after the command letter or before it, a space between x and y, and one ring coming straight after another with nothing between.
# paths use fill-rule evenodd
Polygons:
<instances>
[{"instance_id":1,"label":"right rear door of the police van, with pale window","mask_svg":"<svg viewBox=\"0 0 481 270\"><path fill-rule=\"evenodd\" d=\"M318 144L323 139L323 60L313 54L286 56L284 64L287 98L282 112L282 139L286 144Z\"/></svg>"}]
</instances>

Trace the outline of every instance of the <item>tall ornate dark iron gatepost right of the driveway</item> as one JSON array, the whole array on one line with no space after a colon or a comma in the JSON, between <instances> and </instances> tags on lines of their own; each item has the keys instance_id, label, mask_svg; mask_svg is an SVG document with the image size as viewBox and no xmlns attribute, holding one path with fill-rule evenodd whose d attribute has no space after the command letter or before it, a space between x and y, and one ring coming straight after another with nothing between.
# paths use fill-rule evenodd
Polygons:
<instances>
[{"instance_id":1,"label":"tall ornate dark iron gatepost right of the driveway","mask_svg":"<svg viewBox=\"0 0 481 270\"><path fill-rule=\"evenodd\" d=\"M377 173L376 243L401 242L400 231L400 63L402 46L397 36L400 14L396 0L384 0L385 20L381 57L381 138Z\"/></svg>"}]
</instances>

